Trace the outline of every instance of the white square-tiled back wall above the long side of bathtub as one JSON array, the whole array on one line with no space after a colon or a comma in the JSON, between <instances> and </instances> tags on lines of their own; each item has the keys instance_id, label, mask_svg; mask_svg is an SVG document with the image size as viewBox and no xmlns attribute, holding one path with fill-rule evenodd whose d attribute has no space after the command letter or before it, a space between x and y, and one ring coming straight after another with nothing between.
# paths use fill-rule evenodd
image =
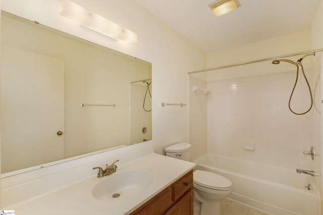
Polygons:
<instances>
[{"instance_id":1,"label":"white square-tiled back wall above the long side of bathtub","mask_svg":"<svg viewBox=\"0 0 323 215\"><path fill-rule=\"evenodd\" d=\"M309 81L312 70L305 69ZM309 117L315 109L305 115L289 111L295 77L296 71L290 71L208 82L207 153L290 169L309 168L310 158L303 150L310 148ZM308 89L300 73L291 106L302 112L309 105ZM255 150L244 150L243 142L255 144Z\"/></svg>"}]
</instances>

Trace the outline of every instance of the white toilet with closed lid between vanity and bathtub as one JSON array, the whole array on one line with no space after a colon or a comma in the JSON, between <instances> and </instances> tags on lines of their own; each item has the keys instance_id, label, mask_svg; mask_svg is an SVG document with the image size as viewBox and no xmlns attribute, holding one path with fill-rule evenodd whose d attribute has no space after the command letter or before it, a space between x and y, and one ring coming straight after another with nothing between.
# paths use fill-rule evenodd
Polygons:
<instances>
[{"instance_id":1,"label":"white toilet with closed lid between vanity and bathtub","mask_svg":"<svg viewBox=\"0 0 323 215\"><path fill-rule=\"evenodd\" d=\"M190 161L191 145L180 142L165 148L166 156ZM193 173L194 198L200 202L200 215L221 215L221 200L233 189L232 182L216 173L195 170Z\"/></svg>"}]
</instances>

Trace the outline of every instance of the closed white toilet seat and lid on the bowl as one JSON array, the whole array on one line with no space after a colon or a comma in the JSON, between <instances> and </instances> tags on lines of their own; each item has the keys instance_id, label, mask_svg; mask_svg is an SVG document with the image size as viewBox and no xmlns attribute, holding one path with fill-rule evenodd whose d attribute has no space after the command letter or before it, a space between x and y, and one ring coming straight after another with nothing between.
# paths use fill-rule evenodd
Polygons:
<instances>
[{"instance_id":1,"label":"closed white toilet seat and lid on the bowl","mask_svg":"<svg viewBox=\"0 0 323 215\"><path fill-rule=\"evenodd\" d=\"M232 182L216 173L196 170L193 173L193 183L208 189L213 190L230 190Z\"/></svg>"}]
</instances>

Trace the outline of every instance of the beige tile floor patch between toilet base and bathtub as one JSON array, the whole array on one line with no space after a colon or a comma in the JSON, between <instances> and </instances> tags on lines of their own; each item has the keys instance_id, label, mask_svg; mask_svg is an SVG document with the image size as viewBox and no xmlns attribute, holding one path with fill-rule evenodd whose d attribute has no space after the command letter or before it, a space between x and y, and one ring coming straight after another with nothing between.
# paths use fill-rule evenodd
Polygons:
<instances>
[{"instance_id":1,"label":"beige tile floor patch between toilet base and bathtub","mask_svg":"<svg viewBox=\"0 0 323 215\"><path fill-rule=\"evenodd\" d=\"M221 215L269 215L254 208L250 208L229 199L224 199L221 202Z\"/></svg>"}]
</instances>

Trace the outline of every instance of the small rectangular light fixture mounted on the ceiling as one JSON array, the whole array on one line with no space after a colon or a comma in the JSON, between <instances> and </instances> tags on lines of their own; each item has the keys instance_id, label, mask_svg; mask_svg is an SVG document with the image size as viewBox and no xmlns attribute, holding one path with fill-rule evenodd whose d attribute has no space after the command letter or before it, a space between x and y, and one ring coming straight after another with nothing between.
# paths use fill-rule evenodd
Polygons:
<instances>
[{"instance_id":1,"label":"small rectangular light fixture mounted on the ceiling","mask_svg":"<svg viewBox=\"0 0 323 215\"><path fill-rule=\"evenodd\" d=\"M220 0L209 4L208 7L214 16L220 17L239 8L240 3L238 0Z\"/></svg>"}]
</instances>

